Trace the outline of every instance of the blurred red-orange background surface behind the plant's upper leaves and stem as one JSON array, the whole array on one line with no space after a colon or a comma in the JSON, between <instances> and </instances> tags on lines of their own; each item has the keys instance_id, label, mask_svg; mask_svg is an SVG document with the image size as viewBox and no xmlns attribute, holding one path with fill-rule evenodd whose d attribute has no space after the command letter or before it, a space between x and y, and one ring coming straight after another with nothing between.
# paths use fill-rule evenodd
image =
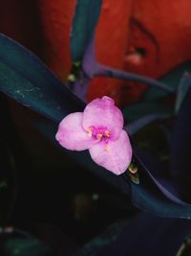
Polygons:
<instances>
[{"instance_id":1,"label":"blurred red-orange background surface behind the plant's upper leaves and stem","mask_svg":"<svg viewBox=\"0 0 191 256\"><path fill-rule=\"evenodd\" d=\"M27 46L65 81L71 69L70 27L76 0L1 0L0 32ZM103 0L96 58L107 65L159 78L191 58L189 0ZM145 85L96 78L88 100L138 101Z\"/></svg>"}]
</instances>

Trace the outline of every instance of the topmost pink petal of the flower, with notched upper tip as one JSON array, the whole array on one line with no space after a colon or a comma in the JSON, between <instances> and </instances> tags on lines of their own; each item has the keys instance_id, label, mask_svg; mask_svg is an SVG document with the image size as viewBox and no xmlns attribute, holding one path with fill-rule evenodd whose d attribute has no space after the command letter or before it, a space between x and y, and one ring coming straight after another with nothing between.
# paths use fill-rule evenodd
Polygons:
<instances>
[{"instance_id":1,"label":"topmost pink petal of the flower, with notched upper tip","mask_svg":"<svg viewBox=\"0 0 191 256\"><path fill-rule=\"evenodd\" d=\"M84 129L89 127L104 127L111 133L111 138L116 140L123 128L123 116L114 101L104 96L88 104L83 113L82 125Z\"/></svg>"}]
</instances>

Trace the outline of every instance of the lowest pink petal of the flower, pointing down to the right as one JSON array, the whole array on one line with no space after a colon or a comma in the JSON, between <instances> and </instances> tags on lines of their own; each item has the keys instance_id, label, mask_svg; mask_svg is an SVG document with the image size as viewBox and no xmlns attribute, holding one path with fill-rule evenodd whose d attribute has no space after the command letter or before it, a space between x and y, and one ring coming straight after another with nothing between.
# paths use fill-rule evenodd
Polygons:
<instances>
[{"instance_id":1,"label":"lowest pink petal of the flower, pointing down to the right","mask_svg":"<svg viewBox=\"0 0 191 256\"><path fill-rule=\"evenodd\" d=\"M92 159L116 175L124 173L132 159L132 147L125 130L121 130L116 141L107 144L102 141L94 145L90 150Z\"/></svg>"}]
</instances>

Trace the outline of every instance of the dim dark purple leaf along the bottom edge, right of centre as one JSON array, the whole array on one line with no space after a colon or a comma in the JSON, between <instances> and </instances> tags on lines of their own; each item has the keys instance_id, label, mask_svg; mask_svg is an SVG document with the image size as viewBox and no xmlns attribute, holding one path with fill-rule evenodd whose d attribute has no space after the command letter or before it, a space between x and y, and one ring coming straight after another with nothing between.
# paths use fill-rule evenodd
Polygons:
<instances>
[{"instance_id":1,"label":"dim dark purple leaf along the bottom edge, right of centre","mask_svg":"<svg viewBox=\"0 0 191 256\"><path fill-rule=\"evenodd\" d=\"M110 226L76 256L175 256L190 231L190 221L139 214Z\"/></svg>"}]
</instances>

